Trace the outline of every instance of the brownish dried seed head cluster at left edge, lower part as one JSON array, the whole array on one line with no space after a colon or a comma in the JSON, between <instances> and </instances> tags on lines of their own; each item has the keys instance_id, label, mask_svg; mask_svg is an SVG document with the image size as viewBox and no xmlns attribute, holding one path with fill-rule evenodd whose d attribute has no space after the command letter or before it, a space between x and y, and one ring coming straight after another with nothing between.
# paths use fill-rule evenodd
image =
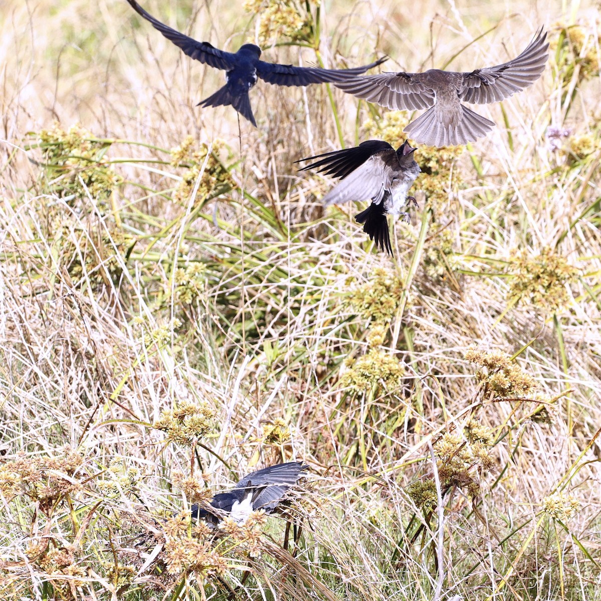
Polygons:
<instances>
[{"instance_id":1,"label":"brownish dried seed head cluster at left edge, lower part","mask_svg":"<svg viewBox=\"0 0 601 601\"><path fill-rule=\"evenodd\" d=\"M12 499L19 494L37 501L48 514L68 495L81 489L73 478L84 457L69 447L56 457L31 457L17 454L17 459L0 466L0 492Z\"/></svg>"}]
</instances>

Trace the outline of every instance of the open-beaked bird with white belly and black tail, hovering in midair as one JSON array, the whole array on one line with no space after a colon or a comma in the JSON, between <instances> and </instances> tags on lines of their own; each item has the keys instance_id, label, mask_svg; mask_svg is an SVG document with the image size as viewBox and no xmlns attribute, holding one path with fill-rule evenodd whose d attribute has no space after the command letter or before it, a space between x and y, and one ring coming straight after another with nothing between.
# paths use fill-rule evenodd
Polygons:
<instances>
[{"instance_id":1,"label":"open-beaked bird with white belly and black tail, hovering in midair","mask_svg":"<svg viewBox=\"0 0 601 601\"><path fill-rule=\"evenodd\" d=\"M409 213L402 209L410 202L415 203L415 198L407 196L407 192L421 171L413 160L413 151L415 148L407 141L394 150L388 142L368 140L355 148L301 159L320 159L301 171L317 169L342 179L323 197L326 206L371 199L370 206L355 215L355 219L364 224L363 231L376 247L392 255L386 215L401 215L409 221Z\"/></svg>"}]
</instances>

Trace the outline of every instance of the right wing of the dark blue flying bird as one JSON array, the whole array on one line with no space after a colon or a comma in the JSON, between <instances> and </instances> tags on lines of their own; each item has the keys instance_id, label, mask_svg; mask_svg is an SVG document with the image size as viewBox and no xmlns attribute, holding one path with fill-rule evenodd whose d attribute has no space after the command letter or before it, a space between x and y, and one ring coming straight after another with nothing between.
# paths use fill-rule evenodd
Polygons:
<instances>
[{"instance_id":1,"label":"right wing of the dark blue flying bird","mask_svg":"<svg viewBox=\"0 0 601 601\"><path fill-rule=\"evenodd\" d=\"M129 1L129 0L128 0ZM320 67L293 67L292 65L280 65L278 63L266 63L258 61L257 75L268 84L275 85L309 85L326 84L328 82L339 82L354 78L365 73L372 67L382 64L388 57L384 56L375 63L354 69L321 69Z\"/></svg>"}]
</instances>

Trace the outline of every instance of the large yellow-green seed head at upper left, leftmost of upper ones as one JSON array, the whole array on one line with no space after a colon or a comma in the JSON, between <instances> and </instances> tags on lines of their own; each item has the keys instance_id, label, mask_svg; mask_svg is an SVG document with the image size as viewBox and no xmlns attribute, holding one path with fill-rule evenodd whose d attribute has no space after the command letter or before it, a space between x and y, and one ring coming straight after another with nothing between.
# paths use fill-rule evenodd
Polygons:
<instances>
[{"instance_id":1,"label":"large yellow-green seed head at upper left, leftmost of upper ones","mask_svg":"<svg viewBox=\"0 0 601 601\"><path fill-rule=\"evenodd\" d=\"M106 201L123 182L105 156L111 141L97 139L79 125L66 132L58 123L41 130L39 140L53 194L87 198L89 193L97 201ZM98 208L102 210L102 202Z\"/></svg>"}]
</instances>

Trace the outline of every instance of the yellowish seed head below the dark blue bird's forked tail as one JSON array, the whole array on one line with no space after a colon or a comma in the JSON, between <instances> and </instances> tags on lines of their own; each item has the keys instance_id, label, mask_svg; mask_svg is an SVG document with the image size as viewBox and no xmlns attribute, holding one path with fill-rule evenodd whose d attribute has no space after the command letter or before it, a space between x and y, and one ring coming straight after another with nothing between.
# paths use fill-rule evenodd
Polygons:
<instances>
[{"instance_id":1,"label":"yellowish seed head below the dark blue bird's forked tail","mask_svg":"<svg viewBox=\"0 0 601 601\"><path fill-rule=\"evenodd\" d=\"M195 141L192 136L187 136L179 146L171 150L171 165L185 166L186 172L182 175L182 181L177 186L173 194L173 200L176 203L187 204L195 186L198 177L201 174L205 160L203 175L198 184L198 191L195 202L205 200L210 195L223 194L234 188L234 180L231 177L230 169L224 165L219 157L222 151L227 151L228 159L231 152L225 142L215 139L211 147L209 158L209 146L201 144L198 150L195 150Z\"/></svg>"}]
</instances>

